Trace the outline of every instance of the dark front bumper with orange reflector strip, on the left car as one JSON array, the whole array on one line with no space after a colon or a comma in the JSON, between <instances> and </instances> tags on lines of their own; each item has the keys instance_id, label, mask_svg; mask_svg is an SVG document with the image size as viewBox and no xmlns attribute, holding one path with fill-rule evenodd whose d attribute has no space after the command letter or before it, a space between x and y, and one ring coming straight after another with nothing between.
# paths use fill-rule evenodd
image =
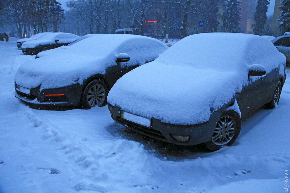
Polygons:
<instances>
[{"instance_id":1,"label":"dark front bumper with orange reflector strip, on the left car","mask_svg":"<svg viewBox=\"0 0 290 193\"><path fill-rule=\"evenodd\" d=\"M80 84L61 88L45 89L40 91L40 86L30 89L30 95L15 90L15 97L26 103L43 106L77 106L81 97ZM46 97L46 94L62 93L61 97Z\"/></svg>"}]
</instances>

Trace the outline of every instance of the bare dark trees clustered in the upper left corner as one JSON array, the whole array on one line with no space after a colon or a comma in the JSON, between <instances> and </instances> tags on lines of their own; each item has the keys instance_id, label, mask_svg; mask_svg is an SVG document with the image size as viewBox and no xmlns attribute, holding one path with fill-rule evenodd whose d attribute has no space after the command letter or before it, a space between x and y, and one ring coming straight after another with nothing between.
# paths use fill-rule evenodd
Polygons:
<instances>
[{"instance_id":1,"label":"bare dark trees clustered in the upper left corner","mask_svg":"<svg viewBox=\"0 0 290 193\"><path fill-rule=\"evenodd\" d=\"M56 0L1 1L2 21L14 23L18 37L30 36L32 31L33 34L48 32L48 28L57 32L57 24L64 18L64 10Z\"/></svg>"}]
</instances>

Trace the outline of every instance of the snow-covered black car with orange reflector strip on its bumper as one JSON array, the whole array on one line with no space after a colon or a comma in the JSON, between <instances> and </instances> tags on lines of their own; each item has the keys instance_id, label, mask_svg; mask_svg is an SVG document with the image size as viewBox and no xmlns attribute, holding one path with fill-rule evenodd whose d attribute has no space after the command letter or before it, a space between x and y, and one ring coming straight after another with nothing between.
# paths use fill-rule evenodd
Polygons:
<instances>
[{"instance_id":1,"label":"snow-covered black car with orange reflector strip on its bumper","mask_svg":"<svg viewBox=\"0 0 290 193\"><path fill-rule=\"evenodd\" d=\"M21 65L15 97L50 106L103 106L124 74L155 60L168 47L145 36L100 34Z\"/></svg>"}]
</instances>

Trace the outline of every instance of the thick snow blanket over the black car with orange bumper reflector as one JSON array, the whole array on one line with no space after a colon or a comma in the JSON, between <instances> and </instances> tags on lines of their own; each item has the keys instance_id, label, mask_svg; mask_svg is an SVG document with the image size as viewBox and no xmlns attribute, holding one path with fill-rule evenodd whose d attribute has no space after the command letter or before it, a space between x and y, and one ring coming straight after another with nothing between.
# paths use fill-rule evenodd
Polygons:
<instances>
[{"instance_id":1,"label":"thick snow blanket over the black car with orange bumper reflector","mask_svg":"<svg viewBox=\"0 0 290 193\"><path fill-rule=\"evenodd\" d=\"M105 74L117 65L119 53L129 54L130 61L121 67L153 61L168 47L160 41L138 35L100 34L79 41L66 49L20 66L15 82L26 88L41 85L41 90L75 83L82 84L94 74Z\"/></svg>"}]
</instances>

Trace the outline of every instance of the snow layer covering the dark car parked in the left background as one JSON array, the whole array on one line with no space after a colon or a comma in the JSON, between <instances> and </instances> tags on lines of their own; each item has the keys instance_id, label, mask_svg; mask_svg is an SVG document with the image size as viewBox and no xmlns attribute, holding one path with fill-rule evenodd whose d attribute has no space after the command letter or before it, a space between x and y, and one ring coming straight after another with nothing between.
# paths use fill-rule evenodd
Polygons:
<instances>
[{"instance_id":1,"label":"snow layer covering the dark car parked in the left background","mask_svg":"<svg viewBox=\"0 0 290 193\"><path fill-rule=\"evenodd\" d=\"M79 36L63 32L46 32L38 39L26 41L21 45L21 48L35 48L38 45L46 45L55 43L55 39L59 39L57 43L71 43L78 39Z\"/></svg>"}]
</instances>

